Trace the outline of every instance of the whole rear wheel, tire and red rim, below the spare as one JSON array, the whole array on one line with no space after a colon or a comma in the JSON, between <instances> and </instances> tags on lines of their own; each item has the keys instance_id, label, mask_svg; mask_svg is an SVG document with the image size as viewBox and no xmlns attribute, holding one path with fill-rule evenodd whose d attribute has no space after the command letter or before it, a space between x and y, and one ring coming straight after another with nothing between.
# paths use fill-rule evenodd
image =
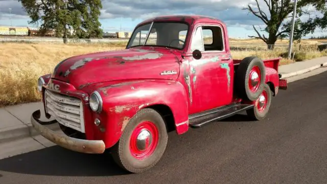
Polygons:
<instances>
[{"instance_id":1,"label":"whole rear wheel, tire and red rim, below the spare","mask_svg":"<svg viewBox=\"0 0 327 184\"><path fill-rule=\"evenodd\" d=\"M263 120L266 118L271 104L271 90L268 84L264 84L264 90L255 101L252 109L246 110L247 115L254 120Z\"/></svg>"}]
</instances>

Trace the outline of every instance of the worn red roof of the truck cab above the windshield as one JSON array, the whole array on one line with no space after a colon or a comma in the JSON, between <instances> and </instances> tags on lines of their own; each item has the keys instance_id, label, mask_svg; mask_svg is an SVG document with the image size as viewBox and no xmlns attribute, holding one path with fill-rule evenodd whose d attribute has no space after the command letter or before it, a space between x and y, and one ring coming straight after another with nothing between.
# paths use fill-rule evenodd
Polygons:
<instances>
[{"instance_id":1,"label":"worn red roof of the truck cab above the windshield","mask_svg":"<svg viewBox=\"0 0 327 184\"><path fill-rule=\"evenodd\" d=\"M188 24L193 25L197 22L213 22L218 24L224 24L223 21L221 21L218 18L211 17L211 16L203 16L203 15L164 15L164 16L157 16L153 18L149 18L147 20L142 21L139 23L136 27L148 24L152 21L184 21L188 22Z\"/></svg>"}]
</instances>

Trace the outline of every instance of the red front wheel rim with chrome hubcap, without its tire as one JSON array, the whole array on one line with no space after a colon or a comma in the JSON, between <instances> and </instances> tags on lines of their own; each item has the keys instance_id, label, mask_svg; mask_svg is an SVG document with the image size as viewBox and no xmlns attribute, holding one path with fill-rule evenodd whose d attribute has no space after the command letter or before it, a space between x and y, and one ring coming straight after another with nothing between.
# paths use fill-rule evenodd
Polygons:
<instances>
[{"instance_id":1,"label":"red front wheel rim with chrome hubcap, without its tire","mask_svg":"<svg viewBox=\"0 0 327 184\"><path fill-rule=\"evenodd\" d=\"M143 122L133 130L129 150L136 159L150 156L158 145L159 131L154 123Z\"/></svg>"}]
</instances>

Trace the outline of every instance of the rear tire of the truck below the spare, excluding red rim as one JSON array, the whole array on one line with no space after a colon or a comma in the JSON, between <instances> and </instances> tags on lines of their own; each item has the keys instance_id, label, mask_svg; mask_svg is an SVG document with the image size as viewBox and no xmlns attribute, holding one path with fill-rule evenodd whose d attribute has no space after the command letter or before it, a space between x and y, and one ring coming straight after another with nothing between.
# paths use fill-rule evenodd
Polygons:
<instances>
[{"instance_id":1,"label":"rear tire of the truck below the spare, excluding red rim","mask_svg":"<svg viewBox=\"0 0 327 184\"><path fill-rule=\"evenodd\" d=\"M266 95L267 95L267 98L266 98L267 104L266 104L265 108L262 111L259 110L258 104L259 104L260 99L258 99L258 103L255 102L254 107L252 109L246 110L247 116L249 116L253 120L260 121L260 120L265 119L267 117L267 114L268 114L268 111L269 111L269 108L271 105L272 93L271 93L270 87L268 86L268 84L264 84L263 86L264 86L264 89L263 89L262 94L266 93Z\"/></svg>"}]
</instances>

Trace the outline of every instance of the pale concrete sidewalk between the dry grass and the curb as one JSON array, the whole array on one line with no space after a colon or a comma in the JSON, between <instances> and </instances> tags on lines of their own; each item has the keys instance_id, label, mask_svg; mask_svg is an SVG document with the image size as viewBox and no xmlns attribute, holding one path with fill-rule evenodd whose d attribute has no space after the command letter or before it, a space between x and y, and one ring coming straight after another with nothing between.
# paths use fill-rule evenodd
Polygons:
<instances>
[{"instance_id":1,"label":"pale concrete sidewalk between the dry grass and the curb","mask_svg":"<svg viewBox=\"0 0 327 184\"><path fill-rule=\"evenodd\" d=\"M279 74L282 74L282 78L289 78L315 70L322 66L322 64L327 65L327 57L279 66ZM31 114L38 109L41 110L41 119L47 120L44 117L44 110L41 102L0 108L0 143L38 135L32 127L30 120ZM58 124L48 125L48 127L52 130L59 130Z\"/></svg>"}]
</instances>

